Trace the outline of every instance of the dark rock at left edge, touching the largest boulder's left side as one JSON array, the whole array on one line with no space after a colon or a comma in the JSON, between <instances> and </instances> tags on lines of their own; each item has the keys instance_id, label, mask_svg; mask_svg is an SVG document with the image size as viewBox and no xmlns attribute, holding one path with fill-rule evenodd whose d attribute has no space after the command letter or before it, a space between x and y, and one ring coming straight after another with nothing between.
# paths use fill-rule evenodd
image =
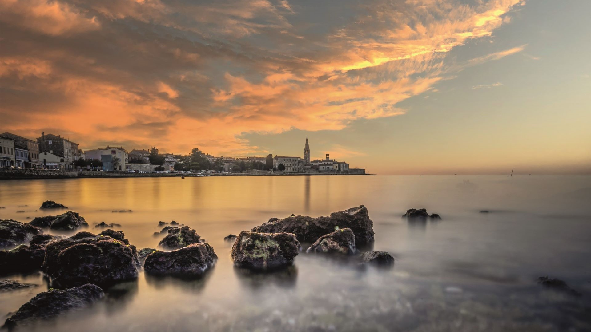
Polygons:
<instances>
[{"instance_id":1,"label":"dark rock at left edge, touching the largest boulder's left side","mask_svg":"<svg viewBox=\"0 0 591 332\"><path fill-rule=\"evenodd\" d=\"M0 274L27 273L41 268L46 249L40 245L20 245L0 251Z\"/></svg>"}]
</instances>

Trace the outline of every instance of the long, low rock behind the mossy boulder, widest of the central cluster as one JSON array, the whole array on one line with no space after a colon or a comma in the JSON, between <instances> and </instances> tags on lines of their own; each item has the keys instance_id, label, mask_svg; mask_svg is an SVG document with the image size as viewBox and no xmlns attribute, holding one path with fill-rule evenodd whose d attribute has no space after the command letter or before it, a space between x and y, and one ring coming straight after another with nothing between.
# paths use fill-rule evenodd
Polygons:
<instances>
[{"instance_id":1,"label":"long, low rock behind the mossy boulder, widest of the central cluster","mask_svg":"<svg viewBox=\"0 0 591 332\"><path fill-rule=\"evenodd\" d=\"M330 217L291 216L284 219L271 218L252 232L259 233L294 233L302 242L316 242L323 235L336 229L350 228L355 233L355 243L363 245L374 240L374 223L369 219L365 206L333 212ZM338 228L337 228L338 227Z\"/></svg>"}]
</instances>

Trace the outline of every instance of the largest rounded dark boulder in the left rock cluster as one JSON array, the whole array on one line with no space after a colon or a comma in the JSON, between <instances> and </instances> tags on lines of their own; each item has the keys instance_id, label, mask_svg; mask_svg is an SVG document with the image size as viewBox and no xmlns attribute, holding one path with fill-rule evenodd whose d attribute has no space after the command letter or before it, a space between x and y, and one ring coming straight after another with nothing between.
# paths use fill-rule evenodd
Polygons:
<instances>
[{"instance_id":1,"label":"largest rounded dark boulder in the left rock cluster","mask_svg":"<svg viewBox=\"0 0 591 332\"><path fill-rule=\"evenodd\" d=\"M135 247L128 243L122 232L114 230L100 235L80 232L48 244L43 269L60 288L87 283L106 286L135 279L139 262Z\"/></svg>"}]
</instances>

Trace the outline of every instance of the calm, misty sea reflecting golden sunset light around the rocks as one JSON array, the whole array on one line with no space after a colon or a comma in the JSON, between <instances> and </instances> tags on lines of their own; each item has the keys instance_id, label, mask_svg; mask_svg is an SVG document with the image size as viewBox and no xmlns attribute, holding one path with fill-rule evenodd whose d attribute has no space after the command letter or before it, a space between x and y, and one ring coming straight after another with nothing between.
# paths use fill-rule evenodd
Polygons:
<instances>
[{"instance_id":1,"label":"calm, misty sea reflecting golden sunset light around the rocks","mask_svg":"<svg viewBox=\"0 0 591 332\"><path fill-rule=\"evenodd\" d=\"M584 331L591 330L591 177L294 176L0 181L1 219L43 216L44 200L79 212L98 233L118 223L156 248L158 222L197 230L219 260L187 281L139 274L88 310L31 331ZM273 274L236 270L223 237L271 217L322 216L359 205L389 270L303 253ZM408 222L410 208L439 222ZM24 210L24 213L17 213ZM113 213L113 210L132 210ZM489 213L479 213L488 210ZM305 249L305 248L304 248ZM583 294L550 291L539 276ZM0 293L0 318L47 289Z\"/></svg>"}]
</instances>

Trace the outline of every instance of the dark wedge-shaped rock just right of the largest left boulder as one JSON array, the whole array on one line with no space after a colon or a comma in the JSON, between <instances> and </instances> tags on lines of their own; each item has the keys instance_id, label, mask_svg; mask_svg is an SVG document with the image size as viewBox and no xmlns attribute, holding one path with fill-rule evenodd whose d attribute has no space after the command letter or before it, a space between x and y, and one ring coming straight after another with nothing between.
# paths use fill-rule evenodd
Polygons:
<instances>
[{"instance_id":1,"label":"dark wedge-shaped rock just right of the largest left boulder","mask_svg":"<svg viewBox=\"0 0 591 332\"><path fill-rule=\"evenodd\" d=\"M216 259L212 246L197 243L169 252L151 253L145 259L144 270L155 275L199 276L212 267Z\"/></svg>"}]
</instances>

